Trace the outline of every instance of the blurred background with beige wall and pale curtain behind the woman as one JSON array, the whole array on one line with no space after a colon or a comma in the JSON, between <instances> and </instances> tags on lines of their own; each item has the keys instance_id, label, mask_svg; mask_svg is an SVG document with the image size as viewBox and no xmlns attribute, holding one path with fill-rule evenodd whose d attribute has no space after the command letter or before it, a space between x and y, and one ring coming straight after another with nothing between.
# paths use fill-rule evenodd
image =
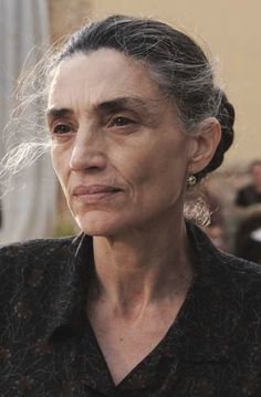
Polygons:
<instances>
[{"instance_id":1,"label":"blurred background with beige wall and pale curtain behind the woman","mask_svg":"<svg viewBox=\"0 0 261 397\"><path fill-rule=\"evenodd\" d=\"M225 164L201 188L212 212L206 230L221 249L261 263L259 0L0 0L0 157L15 105L11 93L29 54L27 66L79 25L112 13L160 19L192 35L215 58L217 80L236 107L237 122L236 143ZM35 118L36 111L31 108ZM77 231L48 155L17 175L8 194L1 189L0 244Z\"/></svg>"}]
</instances>

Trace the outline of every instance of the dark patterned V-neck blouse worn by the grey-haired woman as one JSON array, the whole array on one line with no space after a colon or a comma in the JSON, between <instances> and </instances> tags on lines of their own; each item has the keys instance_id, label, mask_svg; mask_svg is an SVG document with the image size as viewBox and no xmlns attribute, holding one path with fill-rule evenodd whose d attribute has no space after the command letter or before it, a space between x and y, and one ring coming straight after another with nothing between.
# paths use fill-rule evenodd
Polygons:
<instances>
[{"instance_id":1,"label":"dark patterned V-neck blouse worn by the grey-haired woman","mask_svg":"<svg viewBox=\"0 0 261 397\"><path fill-rule=\"evenodd\" d=\"M261 267L188 224L197 275L166 336L115 387L85 315L92 239L0 250L0 396L260 397Z\"/></svg>"}]
</instances>

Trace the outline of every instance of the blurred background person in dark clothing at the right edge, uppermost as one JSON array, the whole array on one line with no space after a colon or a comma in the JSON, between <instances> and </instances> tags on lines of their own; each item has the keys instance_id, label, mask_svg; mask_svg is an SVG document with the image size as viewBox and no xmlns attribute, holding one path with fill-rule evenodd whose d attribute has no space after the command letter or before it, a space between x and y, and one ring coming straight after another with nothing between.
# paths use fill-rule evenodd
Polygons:
<instances>
[{"instance_id":1,"label":"blurred background person in dark clothing at the right edge, uppermost","mask_svg":"<svg viewBox=\"0 0 261 397\"><path fill-rule=\"evenodd\" d=\"M239 207L261 203L261 159L251 163L249 173L251 182L241 188L236 197L236 205Z\"/></svg>"}]
</instances>

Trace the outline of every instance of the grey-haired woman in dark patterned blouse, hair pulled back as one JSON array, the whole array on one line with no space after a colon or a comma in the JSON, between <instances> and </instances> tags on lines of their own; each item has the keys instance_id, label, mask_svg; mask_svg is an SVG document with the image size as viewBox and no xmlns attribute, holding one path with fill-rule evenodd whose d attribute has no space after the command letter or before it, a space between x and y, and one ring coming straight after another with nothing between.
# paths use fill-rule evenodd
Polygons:
<instances>
[{"instance_id":1,"label":"grey-haired woman in dark patterned blouse, hair pulled back","mask_svg":"<svg viewBox=\"0 0 261 397\"><path fill-rule=\"evenodd\" d=\"M49 84L53 167L82 233L0 250L1 395L260 396L261 268L184 217L233 139L201 49L111 17L70 38Z\"/></svg>"}]
</instances>

